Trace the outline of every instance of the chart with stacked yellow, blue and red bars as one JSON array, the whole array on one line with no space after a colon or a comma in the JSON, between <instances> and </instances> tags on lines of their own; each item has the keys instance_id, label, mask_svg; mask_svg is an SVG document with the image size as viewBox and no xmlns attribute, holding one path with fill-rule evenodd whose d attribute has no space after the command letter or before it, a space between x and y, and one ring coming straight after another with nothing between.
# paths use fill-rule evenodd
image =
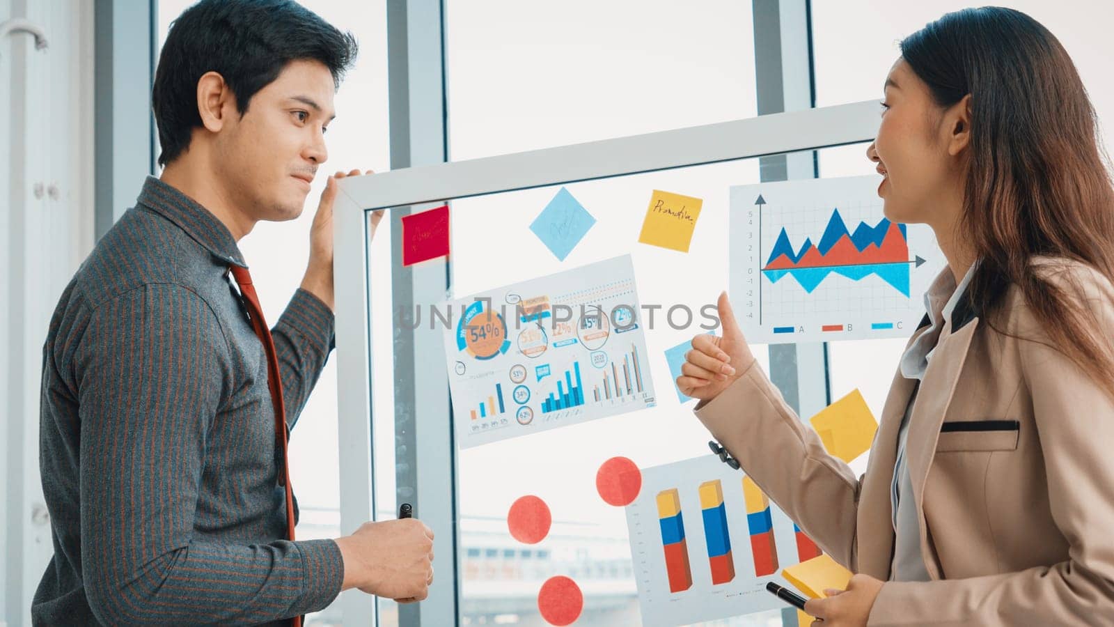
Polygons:
<instances>
[{"instance_id":1,"label":"chart with stacked yellow, blue and red bars","mask_svg":"<svg viewBox=\"0 0 1114 627\"><path fill-rule=\"evenodd\" d=\"M715 455L643 469L642 481L626 517L647 627L783 609L766 582L788 585L781 569L821 553L754 482Z\"/></svg>"}]
</instances>

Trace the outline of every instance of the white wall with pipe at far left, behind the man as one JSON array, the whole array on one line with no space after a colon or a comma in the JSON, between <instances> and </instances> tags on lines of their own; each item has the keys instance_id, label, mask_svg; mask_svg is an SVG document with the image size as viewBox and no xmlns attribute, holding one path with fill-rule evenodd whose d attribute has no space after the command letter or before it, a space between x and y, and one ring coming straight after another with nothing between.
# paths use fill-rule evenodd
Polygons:
<instances>
[{"instance_id":1,"label":"white wall with pipe at far left, behind the man","mask_svg":"<svg viewBox=\"0 0 1114 627\"><path fill-rule=\"evenodd\" d=\"M31 596L53 552L38 472L39 373L50 315L92 245L91 2L0 0L0 20L29 35L0 41L0 617L29 625Z\"/></svg>"}]
</instances>

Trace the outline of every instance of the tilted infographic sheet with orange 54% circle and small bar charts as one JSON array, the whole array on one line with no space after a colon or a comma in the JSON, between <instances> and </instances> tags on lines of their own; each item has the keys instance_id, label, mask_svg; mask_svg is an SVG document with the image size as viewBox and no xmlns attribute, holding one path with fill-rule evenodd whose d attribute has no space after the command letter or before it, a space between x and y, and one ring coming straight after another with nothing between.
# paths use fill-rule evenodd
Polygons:
<instances>
[{"instance_id":1,"label":"tilted infographic sheet with orange 54% circle and small bar charts","mask_svg":"<svg viewBox=\"0 0 1114 627\"><path fill-rule=\"evenodd\" d=\"M629 255L440 307L461 448L655 405Z\"/></svg>"}]
</instances>

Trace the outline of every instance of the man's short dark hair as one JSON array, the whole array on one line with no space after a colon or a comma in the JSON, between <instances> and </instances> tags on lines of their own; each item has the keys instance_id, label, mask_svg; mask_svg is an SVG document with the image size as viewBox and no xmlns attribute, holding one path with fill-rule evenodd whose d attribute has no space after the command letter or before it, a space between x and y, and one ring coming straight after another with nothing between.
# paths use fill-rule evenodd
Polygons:
<instances>
[{"instance_id":1,"label":"man's short dark hair","mask_svg":"<svg viewBox=\"0 0 1114 627\"><path fill-rule=\"evenodd\" d=\"M286 64L321 61L339 86L356 55L355 38L293 0L202 0L182 12L158 57L152 106L163 153L159 165L189 148L202 125L197 81L207 71L224 77L241 115Z\"/></svg>"}]
</instances>

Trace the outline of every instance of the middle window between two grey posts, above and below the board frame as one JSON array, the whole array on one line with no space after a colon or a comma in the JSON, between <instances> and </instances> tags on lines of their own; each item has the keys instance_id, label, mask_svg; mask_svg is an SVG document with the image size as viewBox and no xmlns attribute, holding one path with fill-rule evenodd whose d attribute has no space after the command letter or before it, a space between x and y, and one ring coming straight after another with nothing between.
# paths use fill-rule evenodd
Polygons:
<instances>
[{"instance_id":1,"label":"middle window between two grey posts, above and below the board frame","mask_svg":"<svg viewBox=\"0 0 1114 627\"><path fill-rule=\"evenodd\" d=\"M588 15L592 19L585 19ZM451 160L752 117L756 100L751 22L750 2L721 0L683 7L657 0L636 7L576 0L545 10L508 0L482 6L447 2ZM686 303L694 310L698 305L714 303L720 290L726 288L726 186L756 181L756 163L739 162L569 185L568 191L597 222L564 262L529 232L530 222L559 186L450 203L456 298L631 252L641 278L639 299L664 305L655 321L657 339L649 347L658 407L458 452L459 543L463 551L478 541L469 537L470 525L465 521L505 521L510 503L522 494L544 491L555 521L568 521L567 525L554 523L549 539L535 550L535 567L516 571L521 580L463 581L462 624L488 616L488 586L514 585L517 589L529 582L527 588L536 591L546 578L563 572L590 573L593 579L606 580L597 585L599 589L617 585L623 590L619 605L627 614L607 614L616 611L616 600L606 595L593 598L586 589L589 599L580 620L593 616L608 624L636 620L623 510L605 505L598 495L583 489L592 485L598 464L616 451L629 450L638 456L633 451L641 450L638 463L647 465L706 453L706 432L688 414L694 403L680 408L678 415L672 377L662 357L666 347L691 339L698 329L673 330L664 315L673 303ZM636 243L637 225L652 189L704 199L688 255L656 255L663 251ZM507 263L508 259L516 262ZM647 280L647 276L654 279ZM764 363L764 349L755 347L755 351ZM688 435L643 446L628 442L634 434L627 430L635 423L653 425L646 427L652 431ZM667 440L685 445L668 446ZM561 453L569 446L577 447L578 459L593 462L571 463L567 453ZM543 469L549 472L540 472ZM499 481L489 481L492 473L498 473ZM573 484L579 489L571 489ZM505 523L498 533L501 541L515 542ZM589 538L595 539L588 544L590 550L571 550ZM521 551L519 563L528 554ZM550 559L553 563L541 566ZM524 619L531 615L536 619L536 595L516 599L514 611ZM599 618L603 616L610 618Z\"/></svg>"}]
</instances>

